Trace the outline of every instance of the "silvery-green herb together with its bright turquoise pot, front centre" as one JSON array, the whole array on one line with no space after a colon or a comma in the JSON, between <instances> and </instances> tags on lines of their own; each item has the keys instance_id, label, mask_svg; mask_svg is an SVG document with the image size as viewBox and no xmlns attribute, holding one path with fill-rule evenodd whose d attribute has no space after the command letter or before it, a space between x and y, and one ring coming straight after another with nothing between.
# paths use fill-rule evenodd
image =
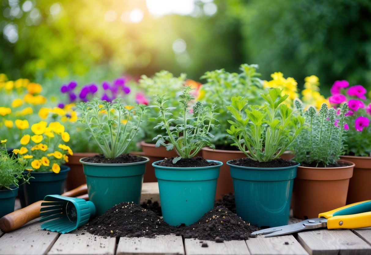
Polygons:
<instances>
[{"instance_id":1,"label":"silvery-green herb together with its bright turquoise pot, front centre","mask_svg":"<svg viewBox=\"0 0 371 255\"><path fill-rule=\"evenodd\" d=\"M195 157L201 148L210 145L213 137L210 130L214 128L217 113L215 104L203 107L198 101L191 114L190 91L191 87L184 86L177 105L171 107L167 107L165 95L155 96L159 109L156 120L160 122L155 128L166 131L166 135L155 137L156 146L174 149L178 154L152 164L158 179L162 216L173 226L190 225L214 207L219 168L223 164Z\"/></svg>"}]
</instances>

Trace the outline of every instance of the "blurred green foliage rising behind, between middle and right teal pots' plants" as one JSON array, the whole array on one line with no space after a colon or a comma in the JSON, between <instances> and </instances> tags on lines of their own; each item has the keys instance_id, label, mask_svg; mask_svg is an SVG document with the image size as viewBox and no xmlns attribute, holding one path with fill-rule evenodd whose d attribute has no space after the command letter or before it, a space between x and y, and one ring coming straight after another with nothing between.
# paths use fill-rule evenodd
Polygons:
<instances>
[{"instance_id":1,"label":"blurred green foliage rising behind, between middle and right teal pots' plants","mask_svg":"<svg viewBox=\"0 0 371 255\"><path fill-rule=\"evenodd\" d=\"M228 148L232 140L227 137L224 130L229 128L227 120L230 117L230 112L227 107L230 105L230 99L236 95L242 95L249 98L251 104L260 104L262 99L260 94L263 93L263 81L258 77L256 72L258 65L242 64L240 66L241 73L230 73L224 69L206 72L201 78L206 79L207 83L201 86L201 97L207 103L218 103L217 113L220 114L220 128L212 129L210 133L214 135L212 143L217 148Z\"/></svg>"}]
</instances>

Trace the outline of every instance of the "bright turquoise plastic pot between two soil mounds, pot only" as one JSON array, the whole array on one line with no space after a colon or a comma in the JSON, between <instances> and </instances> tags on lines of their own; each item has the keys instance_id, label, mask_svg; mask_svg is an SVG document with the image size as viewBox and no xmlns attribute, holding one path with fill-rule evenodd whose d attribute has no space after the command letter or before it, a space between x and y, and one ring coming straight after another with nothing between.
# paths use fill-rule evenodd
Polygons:
<instances>
[{"instance_id":1,"label":"bright turquoise plastic pot between two soil mounds, pot only","mask_svg":"<svg viewBox=\"0 0 371 255\"><path fill-rule=\"evenodd\" d=\"M162 167L152 164L160 190L161 211L165 222L177 226L195 223L214 207L219 168L223 162L210 167Z\"/></svg>"}]
</instances>

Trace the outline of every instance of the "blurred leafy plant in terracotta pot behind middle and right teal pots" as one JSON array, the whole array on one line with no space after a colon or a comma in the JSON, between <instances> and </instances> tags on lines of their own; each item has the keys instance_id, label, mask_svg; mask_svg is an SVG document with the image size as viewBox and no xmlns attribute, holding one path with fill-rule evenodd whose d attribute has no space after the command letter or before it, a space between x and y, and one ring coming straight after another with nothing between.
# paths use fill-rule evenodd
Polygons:
<instances>
[{"instance_id":1,"label":"blurred leafy plant in terracotta pot behind middle and right teal pots","mask_svg":"<svg viewBox=\"0 0 371 255\"><path fill-rule=\"evenodd\" d=\"M244 156L242 151L230 146L232 139L225 132L230 126L227 122L230 117L227 107L230 105L230 99L239 94L248 97L252 104L261 103L260 93L264 91L263 81L258 78L260 74L256 72L257 68L257 65L243 64L240 66L242 72L239 74L221 69L206 72L201 77L207 80L201 86L201 100L210 104L218 102L216 112L219 113L220 127L210 130L210 133L214 136L211 139L213 146L206 146L202 149L203 158L220 160L224 163L220 167L216 199L220 199L223 194L233 192L232 177L229 174L229 167L226 162Z\"/></svg>"}]
</instances>

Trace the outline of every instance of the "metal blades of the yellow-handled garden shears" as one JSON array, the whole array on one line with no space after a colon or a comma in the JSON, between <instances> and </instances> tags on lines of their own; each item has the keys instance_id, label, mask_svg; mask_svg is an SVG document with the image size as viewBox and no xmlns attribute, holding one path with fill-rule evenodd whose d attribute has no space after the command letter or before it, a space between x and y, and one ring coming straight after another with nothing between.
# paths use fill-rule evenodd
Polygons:
<instances>
[{"instance_id":1,"label":"metal blades of the yellow-handled garden shears","mask_svg":"<svg viewBox=\"0 0 371 255\"><path fill-rule=\"evenodd\" d=\"M287 235L295 232L299 232L305 229L316 229L319 227L326 227L327 226L327 219L325 218L314 218L303 220L302 222L286 225L286 226L279 226L279 227L270 227L267 229L258 230L252 232L252 235L264 235L264 237L272 237L272 236L281 236Z\"/></svg>"}]
</instances>

